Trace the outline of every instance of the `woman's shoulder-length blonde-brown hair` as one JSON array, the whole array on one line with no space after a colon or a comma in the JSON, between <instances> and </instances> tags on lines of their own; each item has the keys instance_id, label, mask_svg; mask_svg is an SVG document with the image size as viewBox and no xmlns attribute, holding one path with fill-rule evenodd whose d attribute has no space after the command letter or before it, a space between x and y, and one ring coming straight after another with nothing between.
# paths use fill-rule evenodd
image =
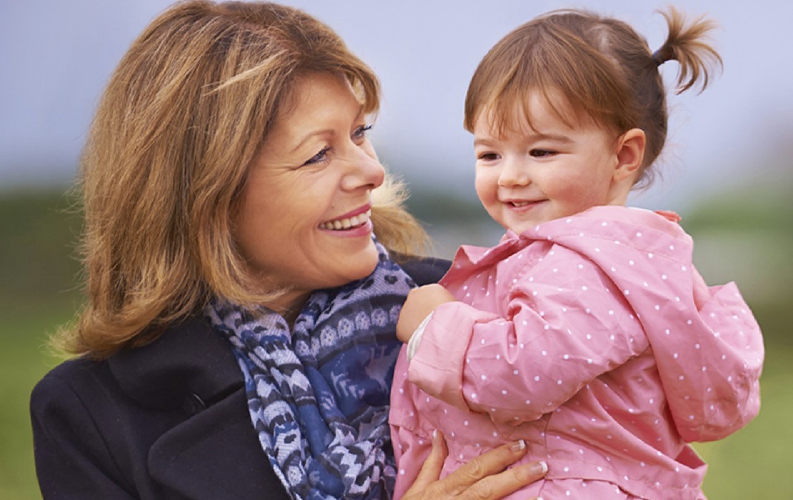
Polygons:
<instances>
[{"instance_id":1,"label":"woman's shoulder-length blonde-brown hair","mask_svg":"<svg viewBox=\"0 0 793 500\"><path fill-rule=\"evenodd\" d=\"M347 78L366 113L380 86L315 18L261 2L180 2L121 59L82 155L86 304L56 345L107 357L151 342L213 295L252 292L232 238L247 166L293 99L297 78ZM420 250L426 235L389 181L377 197L378 239Z\"/></svg>"}]
</instances>

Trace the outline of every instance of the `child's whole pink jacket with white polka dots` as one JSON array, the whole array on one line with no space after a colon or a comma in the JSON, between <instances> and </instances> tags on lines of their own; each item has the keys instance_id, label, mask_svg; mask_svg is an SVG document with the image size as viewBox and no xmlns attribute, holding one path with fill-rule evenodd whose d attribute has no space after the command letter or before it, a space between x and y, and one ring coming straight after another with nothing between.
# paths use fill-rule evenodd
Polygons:
<instances>
[{"instance_id":1,"label":"child's whole pink jacket with white polka dots","mask_svg":"<svg viewBox=\"0 0 793 500\"><path fill-rule=\"evenodd\" d=\"M434 429L442 475L523 439L550 471L514 498L704 498L688 443L754 418L764 349L736 285L699 277L678 220L596 207L462 246L441 281L459 301L397 361L396 498Z\"/></svg>"}]
</instances>

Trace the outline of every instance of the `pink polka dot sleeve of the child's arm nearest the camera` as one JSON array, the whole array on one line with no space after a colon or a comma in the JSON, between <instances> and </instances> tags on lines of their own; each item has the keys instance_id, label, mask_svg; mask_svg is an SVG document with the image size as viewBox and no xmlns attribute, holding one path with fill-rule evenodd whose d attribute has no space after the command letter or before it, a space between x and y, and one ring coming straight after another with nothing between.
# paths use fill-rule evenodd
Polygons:
<instances>
[{"instance_id":1,"label":"pink polka dot sleeve of the child's arm nearest the camera","mask_svg":"<svg viewBox=\"0 0 793 500\"><path fill-rule=\"evenodd\" d=\"M592 261L555 247L515 276L502 313L463 302L437 307L408 378L496 423L540 418L647 349L638 319L610 286Z\"/></svg>"}]
</instances>

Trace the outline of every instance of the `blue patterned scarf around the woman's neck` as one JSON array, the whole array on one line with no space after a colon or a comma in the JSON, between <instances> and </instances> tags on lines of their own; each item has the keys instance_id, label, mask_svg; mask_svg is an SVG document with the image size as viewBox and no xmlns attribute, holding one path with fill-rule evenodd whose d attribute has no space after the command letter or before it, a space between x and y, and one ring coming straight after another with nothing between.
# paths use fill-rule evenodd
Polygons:
<instances>
[{"instance_id":1,"label":"blue patterned scarf around the woman's neck","mask_svg":"<svg viewBox=\"0 0 793 500\"><path fill-rule=\"evenodd\" d=\"M292 331L264 307L216 300L205 309L232 342L253 426L292 498L390 498L393 491L387 419L395 332L415 284L376 244L374 272L314 292Z\"/></svg>"}]
</instances>

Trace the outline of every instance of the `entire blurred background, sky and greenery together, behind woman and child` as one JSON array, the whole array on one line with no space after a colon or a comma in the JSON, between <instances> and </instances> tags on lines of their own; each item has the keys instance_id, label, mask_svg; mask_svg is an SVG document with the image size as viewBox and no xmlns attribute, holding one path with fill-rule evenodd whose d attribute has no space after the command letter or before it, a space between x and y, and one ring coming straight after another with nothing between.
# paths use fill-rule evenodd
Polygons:
<instances>
[{"instance_id":1,"label":"entire blurred background, sky and greenery together, behind woman and child","mask_svg":"<svg viewBox=\"0 0 793 500\"><path fill-rule=\"evenodd\" d=\"M473 191L463 99L482 55L523 21L580 2L293 0L326 21L381 78L371 135L381 161L408 183L408 209L450 258L461 243L502 234ZM169 0L26 0L0 4L0 498L40 498L28 414L37 380L61 359L53 334L78 313L82 226L67 196L94 107L132 39ZM679 212L709 284L736 281L763 329L758 418L726 440L696 444L718 500L793 498L793 2L686 0L709 13L724 72L701 95L668 93L661 178L630 204ZM666 1L592 0L644 34L665 35ZM781 54L781 55L780 55ZM662 67L667 82L676 64Z\"/></svg>"}]
</instances>

